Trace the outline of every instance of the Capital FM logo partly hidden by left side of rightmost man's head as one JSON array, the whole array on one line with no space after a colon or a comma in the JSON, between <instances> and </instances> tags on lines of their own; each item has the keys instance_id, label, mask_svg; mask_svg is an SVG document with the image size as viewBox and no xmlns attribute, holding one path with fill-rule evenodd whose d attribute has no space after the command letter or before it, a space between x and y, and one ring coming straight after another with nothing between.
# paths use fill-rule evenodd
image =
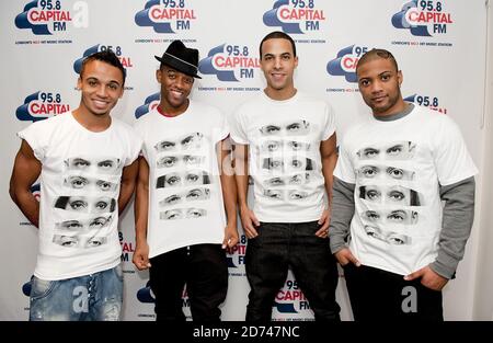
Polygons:
<instances>
[{"instance_id":1,"label":"Capital FM logo partly hidden by left side of rightmost man's head","mask_svg":"<svg viewBox=\"0 0 493 343\"><path fill-rule=\"evenodd\" d=\"M351 45L341 49L337 56L326 65L326 71L331 76L344 77L347 82L357 82L356 65L359 58L368 52L367 46Z\"/></svg>"}]
</instances>

